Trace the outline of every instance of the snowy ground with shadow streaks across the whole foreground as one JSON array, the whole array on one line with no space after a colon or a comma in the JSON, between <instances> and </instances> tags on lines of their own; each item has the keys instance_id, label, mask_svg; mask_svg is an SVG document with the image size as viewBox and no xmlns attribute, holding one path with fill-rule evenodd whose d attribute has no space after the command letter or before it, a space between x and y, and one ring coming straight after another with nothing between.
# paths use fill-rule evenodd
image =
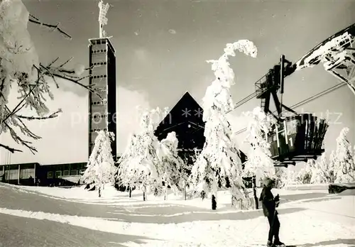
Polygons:
<instances>
[{"instance_id":1,"label":"snowy ground with shadow streaks across the whole foreground","mask_svg":"<svg viewBox=\"0 0 355 247\"><path fill-rule=\"evenodd\" d=\"M327 186L275 190L281 204L280 237L298 246L355 246L355 190L329 195ZM238 212L228 192L218 209L209 200L169 194L80 187L20 187L0 183L0 246L256 246L266 243L261 210Z\"/></svg>"}]
</instances>

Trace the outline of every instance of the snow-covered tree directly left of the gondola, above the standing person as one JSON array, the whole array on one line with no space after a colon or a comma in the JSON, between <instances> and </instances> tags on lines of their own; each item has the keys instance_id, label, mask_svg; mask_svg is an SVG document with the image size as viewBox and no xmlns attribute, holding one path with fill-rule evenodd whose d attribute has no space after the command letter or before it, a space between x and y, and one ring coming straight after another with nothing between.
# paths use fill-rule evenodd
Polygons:
<instances>
[{"instance_id":1,"label":"snow-covered tree directly left of the gondola, above the standing person","mask_svg":"<svg viewBox=\"0 0 355 247\"><path fill-rule=\"evenodd\" d=\"M248 160L244 163L243 174L245 177L263 177L275 178L275 167L271 159L270 143L267 135L271 127L275 124L272 116L266 115L260 107L253 111L244 113L249 124L245 141L250 144Z\"/></svg>"}]
</instances>

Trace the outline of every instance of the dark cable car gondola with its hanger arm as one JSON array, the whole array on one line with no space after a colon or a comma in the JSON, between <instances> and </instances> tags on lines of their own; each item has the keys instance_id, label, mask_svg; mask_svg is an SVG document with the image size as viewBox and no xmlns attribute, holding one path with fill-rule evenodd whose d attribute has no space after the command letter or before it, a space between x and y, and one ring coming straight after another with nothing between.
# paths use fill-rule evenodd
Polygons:
<instances>
[{"instance_id":1,"label":"dark cable car gondola with its hanger arm","mask_svg":"<svg viewBox=\"0 0 355 247\"><path fill-rule=\"evenodd\" d=\"M280 64L275 65L255 83L256 98L261 99L261 108L266 114L272 114L277 119L273 131L267 136L271 144L271 158L275 160L276 166L295 165L297 161L317 159L324 153L322 144L328 128L325 119L313 114L297 114L278 99L279 89L283 94L284 77L292 74L295 69L295 65L291 65L291 62L285 60L285 56L282 55ZM269 109L271 96L278 115L273 114ZM292 115L283 116L283 109Z\"/></svg>"}]
</instances>

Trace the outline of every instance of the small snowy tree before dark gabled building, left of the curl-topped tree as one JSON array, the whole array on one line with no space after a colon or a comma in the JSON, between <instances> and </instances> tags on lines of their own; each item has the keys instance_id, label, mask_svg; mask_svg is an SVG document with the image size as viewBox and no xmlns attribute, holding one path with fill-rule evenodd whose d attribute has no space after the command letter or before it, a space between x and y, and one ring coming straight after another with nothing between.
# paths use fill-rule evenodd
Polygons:
<instances>
[{"instance_id":1,"label":"small snowy tree before dark gabled building, left of the curl-topped tree","mask_svg":"<svg viewBox=\"0 0 355 247\"><path fill-rule=\"evenodd\" d=\"M162 159L162 182L164 182L165 199L168 198L168 186L174 192L182 191L185 187L184 162L178 155L178 138L176 133L170 132L160 141L158 156Z\"/></svg>"}]
</instances>

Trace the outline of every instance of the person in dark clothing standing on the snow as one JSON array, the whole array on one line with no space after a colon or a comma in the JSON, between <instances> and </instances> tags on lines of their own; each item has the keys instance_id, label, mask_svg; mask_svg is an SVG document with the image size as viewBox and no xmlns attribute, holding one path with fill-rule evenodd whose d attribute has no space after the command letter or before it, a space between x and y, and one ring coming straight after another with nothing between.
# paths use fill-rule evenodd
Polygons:
<instances>
[{"instance_id":1,"label":"person in dark clothing standing on the snow","mask_svg":"<svg viewBox=\"0 0 355 247\"><path fill-rule=\"evenodd\" d=\"M268 243L267 246L285 246L284 243L280 241L278 236L280 231L280 221L278 220L278 212L276 211L276 207L280 202L280 197L277 195L275 198L273 197L273 193L271 189L275 186L275 181L271 180L271 178L266 177L263 180L263 190L261 191L261 195L259 201L263 204L263 214L268 217L268 224L270 229L268 231ZM273 242L273 238L275 241Z\"/></svg>"}]
</instances>

